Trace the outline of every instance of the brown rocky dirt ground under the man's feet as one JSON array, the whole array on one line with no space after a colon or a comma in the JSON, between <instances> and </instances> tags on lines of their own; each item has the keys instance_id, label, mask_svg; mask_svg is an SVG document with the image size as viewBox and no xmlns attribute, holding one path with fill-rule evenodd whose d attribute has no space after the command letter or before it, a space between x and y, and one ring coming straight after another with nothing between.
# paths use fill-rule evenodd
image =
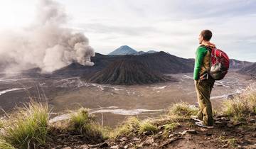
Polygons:
<instances>
[{"instance_id":1,"label":"brown rocky dirt ground under the man's feet","mask_svg":"<svg viewBox=\"0 0 256 149\"><path fill-rule=\"evenodd\" d=\"M193 120L181 119L172 131L164 133L169 120L156 122L155 133L134 131L104 142L55 130L48 138L47 148L256 148L256 114L244 122L234 122L228 116L215 116L214 128L201 128ZM99 143L99 141L101 143Z\"/></svg>"}]
</instances>

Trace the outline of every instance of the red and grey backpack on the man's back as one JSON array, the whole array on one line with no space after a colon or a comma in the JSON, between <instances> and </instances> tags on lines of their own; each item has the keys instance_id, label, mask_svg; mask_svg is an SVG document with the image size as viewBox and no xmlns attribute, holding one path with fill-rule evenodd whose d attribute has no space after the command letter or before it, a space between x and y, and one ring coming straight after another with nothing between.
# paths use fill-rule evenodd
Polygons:
<instances>
[{"instance_id":1,"label":"red and grey backpack on the man's back","mask_svg":"<svg viewBox=\"0 0 256 149\"><path fill-rule=\"evenodd\" d=\"M211 54L209 75L213 77L213 79L215 80L223 79L225 75L228 73L230 63L228 55L217 48L211 48L210 53Z\"/></svg>"}]
</instances>

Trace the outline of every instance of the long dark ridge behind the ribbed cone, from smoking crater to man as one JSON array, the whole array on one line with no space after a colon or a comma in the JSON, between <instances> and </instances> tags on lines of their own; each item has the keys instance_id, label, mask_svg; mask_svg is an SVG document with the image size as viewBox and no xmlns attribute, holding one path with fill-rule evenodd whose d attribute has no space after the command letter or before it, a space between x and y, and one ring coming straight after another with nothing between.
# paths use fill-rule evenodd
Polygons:
<instances>
[{"instance_id":1,"label":"long dark ridge behind the ribbed cone, from smoking crater to man","mask_svg":"<svg viewBox=\"0 0 256 149\"><path fill-rule=\"evenodd\" d=\"M95 57L91 61L95 63L93 66L83 66L73 62L67 67L53 72L53 76L80 76L91 77L97 72L102 71L112 62L118 60L134 60L142 63L148 69L154 70L161 74L176 74L182 72L193 72L194 60L176 57L164 52L146 53L144 55L102 55L95 53Z\"/></svg>"}]
</instances>

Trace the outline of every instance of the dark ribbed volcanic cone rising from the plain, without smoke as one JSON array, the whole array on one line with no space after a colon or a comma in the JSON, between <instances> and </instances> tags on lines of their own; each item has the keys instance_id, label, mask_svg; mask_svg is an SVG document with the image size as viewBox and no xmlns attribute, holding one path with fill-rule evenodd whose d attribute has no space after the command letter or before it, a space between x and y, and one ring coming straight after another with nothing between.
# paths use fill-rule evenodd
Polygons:
<instances>
[{"instance_id":1,"label":"dark ribbed volcanic cone rising from the plain, without smoke","mask_svg":"<svg viewBox=\"0 0 256 149\"><path fill-rule=\"evenodd\" d=\"M98 84L132 85L175 81L175 79L151 70L138 60L127 59L112 62L105 69L93 75L89 81Z\"/></svg>"}]
</instances>

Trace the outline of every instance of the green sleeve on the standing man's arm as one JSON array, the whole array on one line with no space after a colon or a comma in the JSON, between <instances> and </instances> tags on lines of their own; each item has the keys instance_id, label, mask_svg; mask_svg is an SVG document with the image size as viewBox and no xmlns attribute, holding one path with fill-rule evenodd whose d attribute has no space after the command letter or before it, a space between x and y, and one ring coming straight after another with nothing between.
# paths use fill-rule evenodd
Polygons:
<instances>
[{"instance_id":1,"label":"green sleeve on the standing man's arm","mask_svg":"<svg viewBox=\"0 0 256 149\"><path fill-rule=\"evenodd\" d=\"M193 72L193 79L199 79L199 72L203 63L203 58L206 56L208 50L204 46L199 46L196 50L195 67Z\"/></svg>"}]
</instances>

